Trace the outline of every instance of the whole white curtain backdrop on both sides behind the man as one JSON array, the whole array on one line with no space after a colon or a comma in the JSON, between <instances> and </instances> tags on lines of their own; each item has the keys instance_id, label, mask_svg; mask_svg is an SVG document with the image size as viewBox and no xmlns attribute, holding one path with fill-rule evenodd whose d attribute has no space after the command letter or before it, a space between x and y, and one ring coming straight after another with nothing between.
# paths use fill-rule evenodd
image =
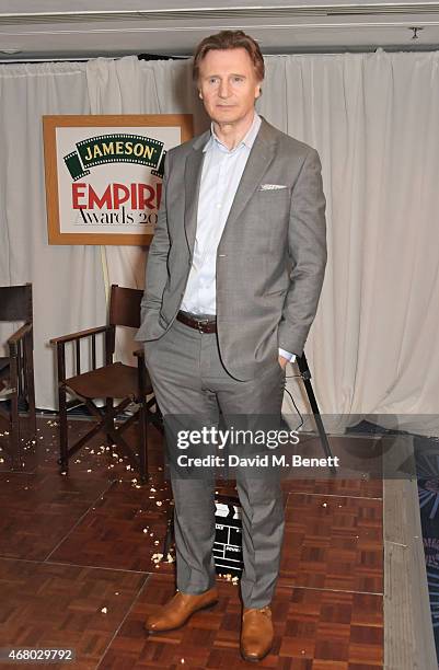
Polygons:
<instances>
[{"instance_id":1,"label":"whole white curtain backdrop on both sides behind the man","mask_svg":"<svg viewBox=\"0 0 439 670\"><path fill-rule=\"evenodd\" d=\"M259 113L323 166L330 257L305 348L321 409L432 431L415 415L439 414L439 53L265 60ZM105 301L96 247L47 246L42 114L189 113L196 134L207 119L187 61L2 66L0 86L0 280L34 282L37 404L53 407L45 342L101 323ZM105 256L111 282L142 287L143 250Z\"/></svg>"}]
</instances>

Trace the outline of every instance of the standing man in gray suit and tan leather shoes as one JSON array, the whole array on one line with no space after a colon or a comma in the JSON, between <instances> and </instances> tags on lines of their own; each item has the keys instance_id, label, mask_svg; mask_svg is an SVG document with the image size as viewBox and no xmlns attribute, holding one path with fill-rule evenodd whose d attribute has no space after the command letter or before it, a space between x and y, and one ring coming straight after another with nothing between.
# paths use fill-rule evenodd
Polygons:
<instances>
[{"instance_id":1,"label":"standing man in gray suit and tan leather shoes","mask_svg":"<svg viewBox=\"0 0 439 670\"><path fill-rule=\"evenodd\" d=\"M166 154L137 335L164 416L280 417L285 367L302 354L316 312L326 263L321 163L256 114L263 79L261 50L241 31L207 37L194 56L211 128ZM171 480L177 592L148 619L150 634L218 599L215 481ZM282 496L276 478L238 473L236 486L241 654L257 661L273 644Z\"/></svg>"}]
</instances>

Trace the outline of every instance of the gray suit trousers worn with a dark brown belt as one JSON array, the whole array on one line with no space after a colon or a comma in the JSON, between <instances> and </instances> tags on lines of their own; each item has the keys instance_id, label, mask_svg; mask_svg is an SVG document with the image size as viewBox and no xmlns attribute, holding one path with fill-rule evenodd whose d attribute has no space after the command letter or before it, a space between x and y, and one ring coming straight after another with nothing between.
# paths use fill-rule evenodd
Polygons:
<instances>
[{"instance_id":1,"label":"gray suit trousers worn with a dark brown belt","mask_svg":"<svg viewBox=\"0 0 439 670\"><path fill-rule=\"evenodd\" d=\"M159 406L166 415L197 415L218 425L228 415L278 415L285 371L274 361L250 381L233 379L221 362L217 335L201 334L178 321L157 340L145 343L148 371ZM167 449L177 449L167 444ZM171 469L174 496L176 586L201 593L215 585L215 480L182 478ZM245 608L263 608L274 596L284 538L284 504L277 477L236 472L242 507L241 594Z\"/></svg>"}]
</instances>

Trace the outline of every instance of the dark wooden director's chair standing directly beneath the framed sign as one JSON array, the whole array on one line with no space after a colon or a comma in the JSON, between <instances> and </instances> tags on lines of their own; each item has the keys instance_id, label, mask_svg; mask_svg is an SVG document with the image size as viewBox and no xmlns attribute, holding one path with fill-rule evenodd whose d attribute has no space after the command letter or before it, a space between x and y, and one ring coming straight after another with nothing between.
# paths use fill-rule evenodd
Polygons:
<instances>
[{"instance_id":1,"label":"dark wooden director's chair standing directly beneath the framed sign","mask_svg":"<svg viewBox=\"0 0 439 670\"><path fill-rule=\"evenodd\" d=\"M114 361L116 326L130 328L140 327L140 301L143 291L130 288L120 288L113 285L111 288L108 324L80 333L72 333L62 337L54 337L50 343L56 345L58 361L58 398L59 398L59 432L61 472L67 472L69 459L74 455L91 438L102 431L108 444L115 444L118 453L124 453L130 464L138 470L140 483L148 481L148 424L153 423L159 429L161 417L153 396L151 381L145 367L143 351L136 351L138 365L127 366ZM105 365L96 367L96 337L104 337ZM89 357L91 369L82 371L81 342L88 339L90 344ZM73 346L76 374L66 379L66 345ZM83 361L82 357L82 361ZM73 396L68 401L67 395ZM148 401L147 396L152 395ZM103 398L105 405L100 407L95 401ZM115 405L115 398L118 404ZM135 403L137 409L119 426L116 417ZM67 412L79 404L85 404L96 425L81 437L74 444L68 444ZM153 407L155 411L152 411ZM124 439L123 434L134 421L139 423L138 455Z\"/></svg>"}]
</instances>

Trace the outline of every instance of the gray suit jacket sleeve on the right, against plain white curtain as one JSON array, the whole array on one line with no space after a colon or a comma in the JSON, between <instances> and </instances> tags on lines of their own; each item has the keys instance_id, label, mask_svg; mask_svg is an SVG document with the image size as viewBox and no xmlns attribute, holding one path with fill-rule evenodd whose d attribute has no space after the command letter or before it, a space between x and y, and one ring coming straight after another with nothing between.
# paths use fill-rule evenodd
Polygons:
<instances>
[{"instance_id":1,"label":"gray suit jacket sleeve on the right, against plain white curtain","mask_svg":"<svg viewBox=\"0 0 439 670\"><path fill-rule=\"evenodd\" d=\"M319 153L310 149L291 194L290 285L279 323L279 347L301 356L317 310L326 266L326 200Z\"/></svg>"}]
</instances>

